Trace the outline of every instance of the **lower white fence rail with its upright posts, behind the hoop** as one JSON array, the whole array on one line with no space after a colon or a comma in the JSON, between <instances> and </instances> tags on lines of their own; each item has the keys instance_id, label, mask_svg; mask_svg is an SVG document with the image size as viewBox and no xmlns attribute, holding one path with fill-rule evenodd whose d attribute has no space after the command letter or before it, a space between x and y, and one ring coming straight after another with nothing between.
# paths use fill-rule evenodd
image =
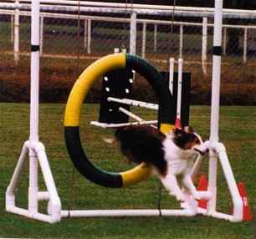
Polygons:
<instances>
[{"instance_id":1,"label":"lower white fence rail with its upright posts, behind the hoop","mask_svg":"<svg viewBox=\"0 0 256 239\"><path fill-rule=\"evenodd\" d=\"M28 2L28 1L23 1ZM44 1L45 2L45 1ZM54 1L49 1L54 3ZM67 1L63 1L64 3ZM28 16L30 17L31 13L28 11L17 11L17 8L14 10L0 9L0 14L11 15L11 41L13 41L13 49L15 59L18 60L19 54L19 16ZM44 46L44 18L61 18L61 19L76 19L84 20L84 48L87 49L87 53L91 53L91 26L92 21L98 22L111 22L111 23L130 23L131 32L130 32L130 52L136 53L136 28L137 23L143 25L142 30L142 44L141 44L141 56L146 56L146 25L154 25L154 51L157 49L157 25L167 25L170 26L179 26L179 57L182 57L183 51L183 27L201 27L202 28L202 71L206 73L207 69L207 28L213 28L213 23L207 22L207 17L202 18L202 23L192 23L184 21L167 21L167 20L156 20L156 19L146 19L146 18L137 18L136 13L131 14L131 18L113 18L113 17L102 17L102 16L88 16L88 15L78 15L74 13L40 13L41 24L40 24L40 37L41 37L41 48L40 53L43 54ZM16 23L15 23L16 22ZM133 26L133 27L132 27ZM243 29L243 63L247 62L247 52L248 52L248 30L256 29L256 25L232 25L232 24L223 24L223 53L226 53L227 45L227 29L228 28L237 28Z\"/></svg>"}]
</instances>

